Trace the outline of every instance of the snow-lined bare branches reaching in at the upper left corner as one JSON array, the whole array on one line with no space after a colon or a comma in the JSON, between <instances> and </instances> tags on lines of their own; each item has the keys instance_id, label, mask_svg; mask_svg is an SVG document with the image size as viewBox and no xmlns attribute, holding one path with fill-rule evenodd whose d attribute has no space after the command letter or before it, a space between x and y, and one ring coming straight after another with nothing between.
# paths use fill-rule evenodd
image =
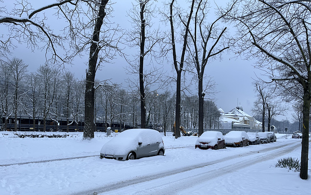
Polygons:
<instances>
[{"instance_id":1,"label":"snow-lined bare branches reaching in at the upper left corner","mask_svg":"<svg viewBox=\"0 0 311 195\"><path fill-rule=\"evenodd\" d=\"M33 9L33 6L28 1L17 0L12 10L7 10L5 6L0 5L0 25L1 28L7 27L9 35L1 35L0 39L0 56L6 56L11 53L11 49L16 48L14 40L18 43L27 43L31 50L45 50L46 54L52 53L54 60L65 61L57 52L56 48L66 51L66 42L68 37L62 33L57 34L56 30L48 24L48 18L45 13L51 8L62 10L61 6L66 4L76 5L79 0L62 0L60 2L47 4L38 9ZM13 1L11 1L13 3ZM0 1L4 3L4 1ZM8 3L8 2L5 2ZM64 12L56 11L56 18ZM66 17L65 17L66 18Z\"/></svg>"}]
</instances>

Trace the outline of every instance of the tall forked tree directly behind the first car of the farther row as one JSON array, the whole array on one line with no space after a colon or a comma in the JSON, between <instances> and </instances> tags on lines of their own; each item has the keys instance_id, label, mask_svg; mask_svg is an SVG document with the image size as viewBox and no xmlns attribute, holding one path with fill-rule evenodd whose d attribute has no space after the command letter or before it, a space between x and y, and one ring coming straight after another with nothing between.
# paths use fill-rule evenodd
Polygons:
<instances>
[{"instance_id":1,"label":"tall forked tree directly behind the first car of the farther row","mask_svg":"<svg viewBox=\"0 0 311 195\"><path fill-rule=\"evenodd\" d=\"M217 28L216 25L225 15L232 9L230 8L224 15L218 17L211 24L207 24L207 0L199 0L195 4L195 15L193 18L193 31L187 28L187 24L183 22L187 28L192 40L191 46L189 47L189 53L192 58L192 63L197 71L198 78L198 96L199 96L199 132L201 136L203 133L203 120L204 120L204 96L205 91L203 90L203 79L204 71L207 63L215 56L228 49L229 46L225 42L221 42L224 37L226 27L222 30ZM199 35L198 35L199 34Z\"/></svg>"}]
</instances>

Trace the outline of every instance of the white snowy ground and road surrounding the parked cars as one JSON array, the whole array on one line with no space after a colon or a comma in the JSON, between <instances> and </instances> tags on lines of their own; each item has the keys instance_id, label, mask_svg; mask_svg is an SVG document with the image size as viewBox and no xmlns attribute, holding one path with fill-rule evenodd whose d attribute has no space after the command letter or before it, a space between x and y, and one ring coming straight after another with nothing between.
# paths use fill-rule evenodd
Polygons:
<instances>
[{"instance_id":1,"label":"white snowy ground and road surrounding the parked cars","mask_svg":"<svg viewBox=\"0 0 311 195\"><path fill-rule=\"evenodd\" d=\"M91 141L83 141L80 132L69 135L17 138L0 132L0 195L310 193L310 162L308 180L275 168L279 159L300 159L301 140L285 139L284 134L276 134L274 143L219 150L195 149L193 136L163 136L164 156L128 161L99 158L103 144L112 138L104 133Z\"/></svg>"}]
</instances>

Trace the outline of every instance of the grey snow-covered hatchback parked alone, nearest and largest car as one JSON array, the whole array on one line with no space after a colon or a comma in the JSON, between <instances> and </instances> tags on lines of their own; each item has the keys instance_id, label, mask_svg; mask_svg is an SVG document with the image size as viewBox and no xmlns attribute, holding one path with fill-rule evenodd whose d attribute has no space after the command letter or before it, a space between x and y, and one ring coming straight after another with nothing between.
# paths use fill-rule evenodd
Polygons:
<instances>
[{"instance_id":1,"label":"grey snow-covered hatchback parked alone, nearest and largest car","mask_svg":"<svg viewBox=\"0 0 311 195\"><path fill-rule=\"evenodd\" d=\"M100 158L133 160L142 157L164 155L161 134L153 129L128 129L106 142Z\"/></svg>"}]
</instances>

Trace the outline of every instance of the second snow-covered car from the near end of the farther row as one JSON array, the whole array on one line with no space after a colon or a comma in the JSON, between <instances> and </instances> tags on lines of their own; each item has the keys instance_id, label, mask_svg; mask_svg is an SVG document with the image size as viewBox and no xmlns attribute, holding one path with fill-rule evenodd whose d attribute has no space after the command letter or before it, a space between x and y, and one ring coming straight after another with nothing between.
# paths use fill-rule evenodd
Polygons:
<instances>
[{"instance_id":1,"label":"second snow-covered car from the near end of the farther row","mask_svg":"<svg viewBox=\"0 0 311 195\"><path fill-rule=\"evenodd\" d=\"M230 131L225 135L225 145L242 147L249 145L248 135L245 131Z\"/></svg>"}]
</instances>

